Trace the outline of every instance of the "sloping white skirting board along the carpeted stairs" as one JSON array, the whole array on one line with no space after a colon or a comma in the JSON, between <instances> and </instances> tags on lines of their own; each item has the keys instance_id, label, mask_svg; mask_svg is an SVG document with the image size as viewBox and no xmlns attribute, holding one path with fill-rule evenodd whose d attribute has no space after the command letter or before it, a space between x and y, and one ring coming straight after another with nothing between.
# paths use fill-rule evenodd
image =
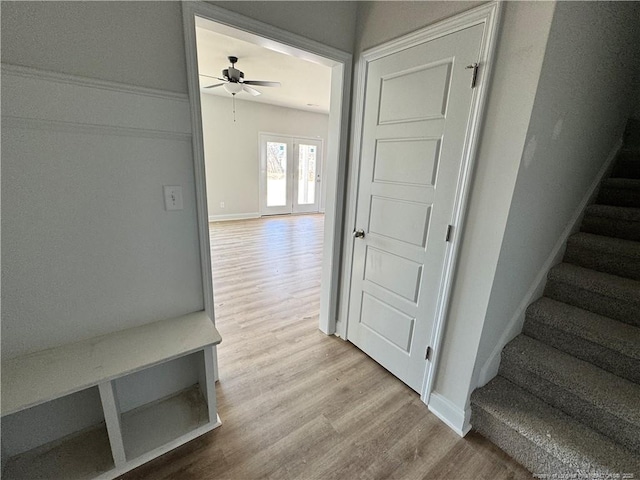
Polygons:
<instances>
[{"instance_id":1,"label":"sloping white skirting board along the carpeted stairs","mask_svg":"<svg viewBox=\"0 0 640 480\"><path fill-rule=\"evenodd\" d=\"M527 293L522 299L522 302L520 302L520 305L518 305L518 308L513 314L513 317L511 318L511 320L509 320L509 323L507 324L504 333L500 337L500 340L491 352L491 355L489 355L487 361L480 369L478 384L476 385L476 387L486 385L492 378L494 378L498 374L498 368L500 366L500 353L502 352L502 349L507 343L509 343L517 335L519 335L520 332L522 332L522 326L524 325L524 317L527 307L542 296L544 287L547 283L547 275L549 273L549 270L551 270L551 267L557 265L562 261L567 239L579 230L585 208L587 207L587 205L593 203L595 195L598 193L600 182L602 182L602 179L607 174L607 172L610 171L613 165L613 161L615 160L621 148L622 138L615 143L613 149L609 152L607 160L602 165L602 168L600 168L600 170L598 171L598 174L589 186L589 189L578 204L578 207L573 212L571 219L569 220L569 222L567 222L565 229L563 230L562 234L558 238L558 241L549 253L547 260L544 262L544 264L540 268L540 271L538 272L538 275L536 275L535 279L531 283L529 290L527 290Z\"/></svg>"}]
</instances>

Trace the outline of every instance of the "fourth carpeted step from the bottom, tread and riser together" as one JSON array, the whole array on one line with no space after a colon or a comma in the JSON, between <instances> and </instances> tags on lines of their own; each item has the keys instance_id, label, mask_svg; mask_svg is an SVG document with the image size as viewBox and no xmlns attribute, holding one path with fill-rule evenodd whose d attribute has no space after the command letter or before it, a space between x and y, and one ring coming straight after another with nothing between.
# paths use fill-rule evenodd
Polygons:
<instances>
[{"instance_id":1,"label":"fourth carpeted step from the bottom, tread and riser together","mask_svg":"<svg viewBox=\"0 0 640 480\"><path fill-rule=\"evenodd\" d=\"M640 281L560 263L549 271L545 296L631 325L640 325Z\"/></svg>"}]
</instances>

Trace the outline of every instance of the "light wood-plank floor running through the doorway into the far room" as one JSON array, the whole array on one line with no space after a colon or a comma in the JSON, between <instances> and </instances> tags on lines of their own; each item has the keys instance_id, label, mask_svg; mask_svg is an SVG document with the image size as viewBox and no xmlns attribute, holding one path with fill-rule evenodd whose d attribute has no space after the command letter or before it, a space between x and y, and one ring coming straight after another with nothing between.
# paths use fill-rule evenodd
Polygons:
<instances>
[{"instance_id":1,"label":"light wood-plank floor running through the doorway into the far room","mask_svg":"<svg viewBox=\"0 0 640 480\"><path fill-rule=\"evenodd\" d=\"M322 215L211 224L222 426L127 479L524 479L318 330Z\"/></svg>"}]
</instances>

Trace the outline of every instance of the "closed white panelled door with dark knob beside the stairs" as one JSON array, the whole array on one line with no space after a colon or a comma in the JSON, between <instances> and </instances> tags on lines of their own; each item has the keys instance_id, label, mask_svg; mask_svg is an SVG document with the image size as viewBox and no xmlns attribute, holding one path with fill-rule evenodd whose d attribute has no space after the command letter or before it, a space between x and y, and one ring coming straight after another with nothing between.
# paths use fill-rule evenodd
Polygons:
<instances>
[{"instance_id":1,"label":"closed white panelled door with dark knob beside the stairs","mask_svg":"<svg viewBox=\"0 0 640 480\"><path fill-rule=\"evenodd\" d=\"M483 25L367 64L347 338L420 391Z\"/></svg>"}]
</instances>

